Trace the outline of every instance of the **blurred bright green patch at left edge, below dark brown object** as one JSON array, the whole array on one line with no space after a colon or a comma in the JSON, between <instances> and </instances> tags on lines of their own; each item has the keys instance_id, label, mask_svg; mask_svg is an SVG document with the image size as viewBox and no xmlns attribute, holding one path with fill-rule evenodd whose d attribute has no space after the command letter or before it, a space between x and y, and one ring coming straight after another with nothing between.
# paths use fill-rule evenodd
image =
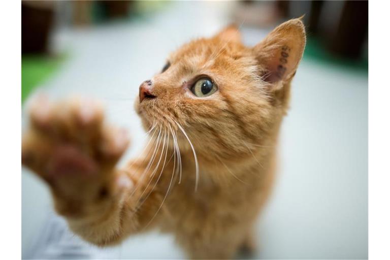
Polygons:
<instances>
[{"instance_id":1,"label":"blurred bright green patch at left edge, below dark brown object","mask_svg":"<svg viewBox=\"0 0 390 260\"><path fill-rule=\"evenodd\" d=\"M63 60L63 56L22 55L22 103L32 90L58 69Z\"/></svg>"}]
</instances>

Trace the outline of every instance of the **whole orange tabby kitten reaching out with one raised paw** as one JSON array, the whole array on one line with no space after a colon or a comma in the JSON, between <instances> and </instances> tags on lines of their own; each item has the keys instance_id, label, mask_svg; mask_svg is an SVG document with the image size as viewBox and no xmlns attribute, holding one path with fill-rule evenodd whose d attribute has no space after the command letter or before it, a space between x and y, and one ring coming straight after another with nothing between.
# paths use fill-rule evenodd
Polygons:
<instances>
[{"instance_id":1,"label":"whole orange tabby kitten reaching out with one raised paw","mask_svg":"<svg viewBox=\"0 0 390 260\"><path fill-rule=\"evenodd\" d=\"M123 169L128 141L102 107L39 99L22 163L50 186L56 211L96 245L152 228L173 233L191 258L230 258L252 247L271 191L290 82L305 47L300 19L253 48L236 27L172 53L143 82L135 108L150 141Z\"/></svg>"}]
</instances>

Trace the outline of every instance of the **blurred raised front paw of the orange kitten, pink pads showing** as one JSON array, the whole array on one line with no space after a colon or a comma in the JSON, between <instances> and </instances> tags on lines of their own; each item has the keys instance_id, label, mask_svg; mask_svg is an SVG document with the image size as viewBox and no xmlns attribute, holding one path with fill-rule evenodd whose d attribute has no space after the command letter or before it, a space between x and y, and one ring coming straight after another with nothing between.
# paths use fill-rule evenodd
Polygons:
<instances>
[{"instance_id":1,"label":"blurred raised front paw of the orange kitten, pink pads showing","mask_svg":"<svg viewBox=\"0 0 390 260\"><path fill-rule=\"evenodd\" d=\"M110 194L128 139L124 129L104 123L98 102L52 103L41 96L31 104L29 119L22 164L50 185L55 198L80 205Z\"/></svg>"}]
</instances>

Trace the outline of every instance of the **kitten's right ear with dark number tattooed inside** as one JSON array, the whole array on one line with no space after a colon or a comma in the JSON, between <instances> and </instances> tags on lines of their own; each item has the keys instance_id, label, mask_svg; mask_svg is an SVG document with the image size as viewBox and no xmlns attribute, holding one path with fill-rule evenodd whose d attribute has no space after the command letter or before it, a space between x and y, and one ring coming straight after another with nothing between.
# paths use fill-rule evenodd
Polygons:
<instances>
[{"instance_id":1,"label":"kitten's right ear with dark number tattooed inside","mask_svg":"<svg viewBox=\"0 0 390 260\"><path fill-rule=\"evenodd\" d=\"M264 68L263 79L275 90L295 75L305 44L305 26L298 18L280 24L253 47L254 55Z\"/></svg>"}]
</instances>

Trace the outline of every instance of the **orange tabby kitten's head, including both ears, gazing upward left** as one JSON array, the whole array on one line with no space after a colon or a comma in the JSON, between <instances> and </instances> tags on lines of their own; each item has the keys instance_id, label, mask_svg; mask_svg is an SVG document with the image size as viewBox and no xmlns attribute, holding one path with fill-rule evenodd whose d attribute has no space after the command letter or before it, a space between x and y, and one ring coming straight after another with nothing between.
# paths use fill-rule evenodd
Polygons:
<instances>
[{"instance_id":1,"label":"orange tabby kitten's head, including both ears, gazing upward left","mask_svg":"<svg viewBox=\"0 0 390 260\"><path fill-rule=\"evenodd\" d=\"M300 19L279 25L254 47L241 43L235 26L191 41L141 84L136 111L146 129L178 133L181 149L190 148L184 131L201 156L248 154L278 131L305 43Z\"/></svg>"}]
</instances>

